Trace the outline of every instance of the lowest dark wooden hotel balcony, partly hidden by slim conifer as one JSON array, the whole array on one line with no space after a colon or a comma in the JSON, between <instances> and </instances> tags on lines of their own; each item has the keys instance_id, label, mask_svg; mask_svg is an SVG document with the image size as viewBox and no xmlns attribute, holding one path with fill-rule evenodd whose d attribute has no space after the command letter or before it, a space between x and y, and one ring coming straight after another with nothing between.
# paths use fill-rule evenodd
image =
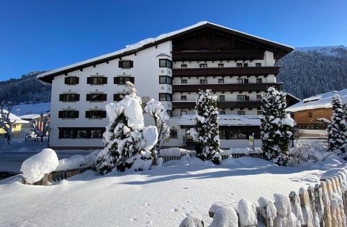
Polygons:
<instances>
[{"instance_id":1,"label":"lowest dark wooden hotel balcony, partly hidden by slim conifer","mask_svg":"<svg viewBox=\"0 0 347 227\"><path fill-rule=\"evenodd\" d=\"M217 101L218 108L260 108L261 101ZM195 101L173 101L172 108L195 108Z\"/></svg>"}]
</instances>

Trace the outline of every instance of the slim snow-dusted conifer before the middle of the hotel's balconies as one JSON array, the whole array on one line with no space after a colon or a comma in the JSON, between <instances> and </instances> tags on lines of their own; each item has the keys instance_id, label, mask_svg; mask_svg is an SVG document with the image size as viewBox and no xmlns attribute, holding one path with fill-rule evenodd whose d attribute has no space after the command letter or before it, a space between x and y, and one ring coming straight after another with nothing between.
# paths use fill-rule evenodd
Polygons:
<instances>
[{"instance_id":1,"label":"slim snow-dusted conifer before the middle of the hotel's balconies","mask_svg":"<svg viewBox=\"0 0 347 227\"><path fill-rule=\"evenodd\" d=\"M196 156L201 160L212 160L219 165L219 126L217 97L211 95L211 90L200 90L195 104L196 130L191 129L191 135L196 142Z\"/></svg>"}]
</instances>

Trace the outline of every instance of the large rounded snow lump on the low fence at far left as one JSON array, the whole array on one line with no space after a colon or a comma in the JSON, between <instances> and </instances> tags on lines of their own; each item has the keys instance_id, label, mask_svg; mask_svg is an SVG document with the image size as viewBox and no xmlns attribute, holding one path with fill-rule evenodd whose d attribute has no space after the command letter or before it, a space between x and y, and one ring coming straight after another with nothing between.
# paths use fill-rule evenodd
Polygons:
<instances>
[{"instance_id":1,"label":"large rounded snow lump on the low fence at far left","mask_svg":"<svg viewBox=\"0 0 347 227\"><path fill-rule=\"evenodd\" d=\"M56 151L52 149L43 149L22 164L21 171L23 177L28 183L35 183L42 179L44 174L49 174L51 171L56 170L59 161Z\"/></svg>"}]
</instances>

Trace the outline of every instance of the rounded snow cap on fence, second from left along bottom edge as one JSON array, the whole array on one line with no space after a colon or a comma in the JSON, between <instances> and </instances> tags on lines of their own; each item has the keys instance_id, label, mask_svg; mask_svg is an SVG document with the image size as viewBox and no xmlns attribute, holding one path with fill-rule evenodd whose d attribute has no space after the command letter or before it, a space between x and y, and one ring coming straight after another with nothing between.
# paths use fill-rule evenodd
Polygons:
<instances>
[{"instance_id":1,"label":"rounded snow cap on fence, second from left along bottom edge","mask_svg":"<svg viewBox=\"0 0 347 227\"><path fill-rule=\"evenodd\" d=\"M238 226L237 213L235 212L233 208L230 208L228 206L222 206L214 214L213 221L210 227L220 227L220 226L228 226L228 227Z\"/></svg>"}]
</instances>

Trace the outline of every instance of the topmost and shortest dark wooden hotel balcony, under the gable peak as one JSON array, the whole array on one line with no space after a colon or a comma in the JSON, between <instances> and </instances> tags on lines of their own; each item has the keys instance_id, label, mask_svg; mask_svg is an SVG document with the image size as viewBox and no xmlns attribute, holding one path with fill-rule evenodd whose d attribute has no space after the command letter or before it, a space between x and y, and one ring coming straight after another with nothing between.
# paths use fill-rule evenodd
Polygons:
<instances>
[{"instance_id":1,"label":"topmost and shortest dark wooden hotel balcony, under the gable peak","mask_svg":"<svg viewBox=\"0 0 347 227\"><path fill-rule=\"evenodd\" d=\"M263 51L174 51L173 61L188 60L263 60Z\"/></svg>"}]
</instances>

